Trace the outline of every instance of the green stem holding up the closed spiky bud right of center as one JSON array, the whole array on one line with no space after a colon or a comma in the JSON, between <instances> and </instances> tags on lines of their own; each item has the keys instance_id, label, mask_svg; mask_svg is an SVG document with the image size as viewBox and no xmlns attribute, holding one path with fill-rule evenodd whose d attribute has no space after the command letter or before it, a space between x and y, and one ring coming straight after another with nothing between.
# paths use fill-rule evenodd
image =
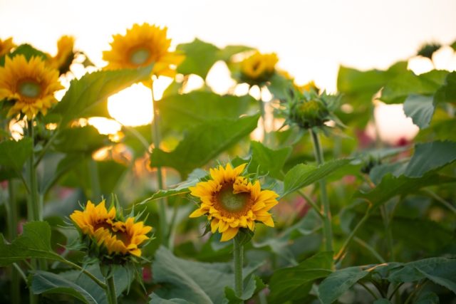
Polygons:
<instances>
[{"instance_id":1,"label":"green stem holding up the closed spiky bud right of center","mask_svg":"<svg viewBox=\"0 0 456 304\"><path fill-rule=\"evenodd\" d=\"M318 135L310 129L312 142L314 143L314 154L318 165L323 164L323 150ZM326 194L326 180L320 180L321 210L323 214L323 234L325 238L326 251L333 251L333 229L331 227L331 208L329 206L328 194Z\"/></svg>"}]
</instances>

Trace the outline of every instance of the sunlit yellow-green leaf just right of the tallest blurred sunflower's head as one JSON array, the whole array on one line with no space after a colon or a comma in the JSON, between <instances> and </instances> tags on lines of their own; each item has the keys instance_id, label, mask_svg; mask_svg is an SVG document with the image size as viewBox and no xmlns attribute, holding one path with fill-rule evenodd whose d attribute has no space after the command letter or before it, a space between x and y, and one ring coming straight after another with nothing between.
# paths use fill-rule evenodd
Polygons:
<instances>
[{"instance_id":1,"label":"sunlit yellow-green leaf just right of the tallest blurred sunflower's head","mask_svg":"<svg viewBox=\"0 0 456 304\"><path fill-rule=\"evenodd\" d=\"M185 60L177 67L177 73L184 75L196 74L205 79L212 65L219 60L219 48L198 38L190 43L182 43L176 49L185 53Z\"/></svg>"}]
</instances>

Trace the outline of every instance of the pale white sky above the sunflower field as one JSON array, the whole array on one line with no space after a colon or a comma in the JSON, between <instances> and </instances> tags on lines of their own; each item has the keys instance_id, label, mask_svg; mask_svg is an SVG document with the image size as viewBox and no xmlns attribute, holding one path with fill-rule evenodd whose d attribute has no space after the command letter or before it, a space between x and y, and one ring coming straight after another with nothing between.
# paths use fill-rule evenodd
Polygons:
<instances>
[{"instance_id":1,"label":"pale white sky above the sunflower field","mask_svg":"<svg viewBox=\"0 0 456 304\"><path fill-rule=\"evenodd\" d=\"M173 45L197 37L274 51L299 83L334 90L339 64L386 68L424 42L455 41L455 16L455 0L0 0L0 38L55 53L70 34L103 66L111 36L147 21L167 26Z\"/></svg>"}]
</instances>

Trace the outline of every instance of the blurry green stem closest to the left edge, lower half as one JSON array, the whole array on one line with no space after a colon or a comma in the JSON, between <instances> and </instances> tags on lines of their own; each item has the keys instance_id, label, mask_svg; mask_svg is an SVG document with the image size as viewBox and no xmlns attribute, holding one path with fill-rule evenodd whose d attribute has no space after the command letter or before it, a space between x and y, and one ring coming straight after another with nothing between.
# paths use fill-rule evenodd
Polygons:
<instances>
[{"instance_id":1,"label":"blurry green stem closest to the left edge, lower half","mask_svg":"<svg viewBox=\"0 0 456 304\"><path fill-rule=\"evenodd\" d=\"M13 241L17 236L17 204L15 186L14 179L10 179L8 182L8 204L6 204L9 241ZM14 266L11 266L11 303L21 302L20 287L19 272L16 268L14 268Z\"/></svg>"}]
</instances>

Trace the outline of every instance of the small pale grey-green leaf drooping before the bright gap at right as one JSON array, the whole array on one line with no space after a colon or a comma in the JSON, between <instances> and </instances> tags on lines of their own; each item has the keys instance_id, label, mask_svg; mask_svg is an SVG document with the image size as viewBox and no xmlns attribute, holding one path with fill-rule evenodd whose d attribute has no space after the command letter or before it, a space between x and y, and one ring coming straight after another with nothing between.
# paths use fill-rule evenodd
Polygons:
<instances>
[{"instance_id":1,"label":"small pale grey-green leaf drooping before the bright gap at right","mask_svg":"<svg viewBox=\"0 0 456 304\"><path fill-rule=\"evenodd\" d=\"M434 100L431 96L409 95L404 102L405 115L411 117L413 123L420 129L429 126L434 110Z\"/></svg>"}]
</instances>

